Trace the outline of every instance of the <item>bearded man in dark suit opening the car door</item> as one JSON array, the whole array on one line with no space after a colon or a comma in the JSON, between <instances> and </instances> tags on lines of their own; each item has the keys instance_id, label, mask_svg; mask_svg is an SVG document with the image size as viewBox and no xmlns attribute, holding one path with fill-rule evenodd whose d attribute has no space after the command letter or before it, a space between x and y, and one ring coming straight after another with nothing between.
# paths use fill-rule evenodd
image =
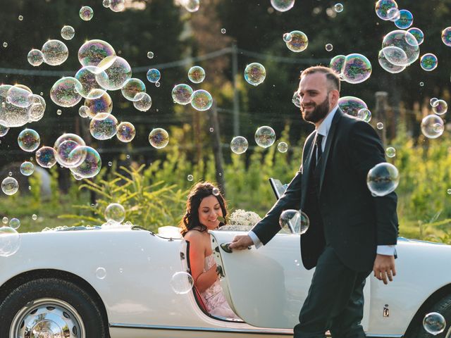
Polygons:
<instances>
[{"instance_id":1,"label":"bearded man in dark suit opening the car door","mask_svg":"<svg viewBox=\"0 0 451 338\"><path fill-rule=\"evenodd\" d=\"M301 236L302 263L316 267L299 313L295 338L365 337L363 289L373 270L384 284L395 276L397 196L371 196L366 175L385 162L373 127L338 108L340 79L330 68L315 66L299 82L302 118L315 125L306 139L302 166L282 197L232 249L266 244L280 230L286 209L302 209L310 219Z\"/></svg>"}]
</instances>

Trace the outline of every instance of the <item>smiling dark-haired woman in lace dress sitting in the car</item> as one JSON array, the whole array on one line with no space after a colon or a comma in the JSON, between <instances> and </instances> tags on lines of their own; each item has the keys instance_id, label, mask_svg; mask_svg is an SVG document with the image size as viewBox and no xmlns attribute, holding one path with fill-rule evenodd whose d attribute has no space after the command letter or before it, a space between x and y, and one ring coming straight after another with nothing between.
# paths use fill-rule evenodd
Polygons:
<instances>
[{"instance_id":1,"label":"smiling dark-haired woman in lace dress sitting in the car","mask_svg":"<svg viewBox=\"0 0 451 338\"><path fill-rule=\"evenodd\" d=\"M180 227L181 234L190 242L191 275L206 310L211 315L237 320L240 318L228 305L219 283L208 232L221 227L223 223L218 216L225 218L226 215L226 201L219 190L210 182L199 182L188 195Z\"/></svg>"}]
</instances>

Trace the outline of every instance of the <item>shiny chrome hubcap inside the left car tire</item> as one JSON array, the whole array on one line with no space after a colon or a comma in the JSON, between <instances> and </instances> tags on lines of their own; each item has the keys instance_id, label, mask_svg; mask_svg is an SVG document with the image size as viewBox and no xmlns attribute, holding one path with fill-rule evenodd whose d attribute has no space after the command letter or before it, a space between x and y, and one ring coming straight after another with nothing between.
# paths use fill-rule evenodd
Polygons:
<instances>
[{"instance_id":1,"label":"shiny chrome hubcap inside the left car tire","mask_svg":"<svg viewBox=\"0 0 451 338\"><path fill-rule=\"evenodd\" d=\"M82 318L66 301L37 299L20 309L10 338L85 338Z\"/></svg>"}]
</instances>

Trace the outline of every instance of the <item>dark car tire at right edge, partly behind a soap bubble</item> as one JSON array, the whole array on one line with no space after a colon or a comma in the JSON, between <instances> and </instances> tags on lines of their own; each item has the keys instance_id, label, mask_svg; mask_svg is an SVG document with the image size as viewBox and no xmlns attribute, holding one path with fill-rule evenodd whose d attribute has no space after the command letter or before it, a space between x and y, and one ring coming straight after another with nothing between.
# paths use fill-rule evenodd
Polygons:
<instances>
[{"instance_id":1,"label":"dark car tire at right edge, partly behind a soap bubble","mask_svg":"<svg viewBox=\"0 0 451 338\"><path fill-rule=\"evenodd\" d=\"M415 322L412 323L412 327L406 332L405 338L431 338L431 334L426 332L423 327L424 316L431 312L438 312L446 320L445 330L433 336L434 338L444 338L451 327L451 294L444 296L440 301L437 301L433 306L429 306L426 311L423 311Z\"/></svg>"}]
</instances>

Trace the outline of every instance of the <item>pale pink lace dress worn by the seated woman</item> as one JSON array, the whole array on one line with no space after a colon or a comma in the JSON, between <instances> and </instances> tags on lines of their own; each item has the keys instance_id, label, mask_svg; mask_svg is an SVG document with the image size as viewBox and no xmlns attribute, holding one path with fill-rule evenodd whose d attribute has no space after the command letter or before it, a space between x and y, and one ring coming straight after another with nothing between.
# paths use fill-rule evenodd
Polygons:
<instances>
[{"instance_id":1,"label":"pale pink lace dress worn by the seated woman","mask_svg":"<svg viewBox=\"0 0 451 338\"><path fill-rule=\"evenodd\" d=\"M213 253L211 253L210 256L206 256L204 272L209 270L214 265L214 263L215 261ZM219 280L216 280L216 282L214 282L211 287L202 292L201 296L204 299L206 310L209 311L211 315L240 320L240 317L238 317L228 305Z\"/></svg>"}]
</instances>

